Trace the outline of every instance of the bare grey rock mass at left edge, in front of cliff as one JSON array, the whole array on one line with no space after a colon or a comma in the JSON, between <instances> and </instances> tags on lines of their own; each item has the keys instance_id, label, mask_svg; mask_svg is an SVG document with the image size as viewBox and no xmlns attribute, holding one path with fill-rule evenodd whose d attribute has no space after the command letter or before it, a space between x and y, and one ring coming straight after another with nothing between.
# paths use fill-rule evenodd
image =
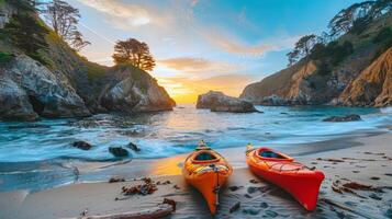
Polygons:
<instances>
[{"instance_id":1,"label":"bare grey rock mass at left edge, in front of cliff","mask_svg":"<svg viewBox=\"0 0 392 219\"><path fill-rule=\"evenodd\" d=\"M20 55L2 68L0 117L34 119L45 117L87 116L90 112L66 78L52 73L34 59ZM11 100L11 101L7 101ZM2 110L4 111L4 110Z\"/></svg>"}]
</instances>

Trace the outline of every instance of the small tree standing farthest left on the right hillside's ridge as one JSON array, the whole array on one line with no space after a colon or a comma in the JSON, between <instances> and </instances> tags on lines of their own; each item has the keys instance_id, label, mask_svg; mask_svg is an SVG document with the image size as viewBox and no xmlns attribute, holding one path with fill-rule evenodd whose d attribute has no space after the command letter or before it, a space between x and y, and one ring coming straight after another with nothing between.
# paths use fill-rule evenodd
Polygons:
<instances>
[{"instance_id":1,"label":"small tree standing farthest left on the right hillside's ridge","mask_svg":"<svg viewBox=\"0 0 392 219\"><path fill-rule=\"evenodd\" d=\"M302 36L296 43L292 51L288 53L289 66L292 66L298 60L306 57L311 54L311 50L315 44L317 44L320 37L314 34Z\"/></svg>"}]
</instances>

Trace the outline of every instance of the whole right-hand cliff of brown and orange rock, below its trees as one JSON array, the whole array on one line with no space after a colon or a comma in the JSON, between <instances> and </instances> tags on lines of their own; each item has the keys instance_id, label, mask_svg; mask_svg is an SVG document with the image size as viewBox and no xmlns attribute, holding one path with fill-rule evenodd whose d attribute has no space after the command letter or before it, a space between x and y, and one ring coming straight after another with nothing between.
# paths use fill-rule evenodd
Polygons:
<instances>
[{"instance_id":1,"label":"whole right-hand cliff of brown and orange rock, below its trees","mask_svg":"<svg viewBox=\"0 0 392 219\"><path fill-rule=\"evenodd\" d=\"M384 37L381 41L374 41L376 36L388 27L392 28L391 14L374 21L360 34L349 33L338 38L336 41L337 45L343 45L346 42L352 45L352 51L339 62L329 65L326 69L325 62L312 57L305 57L295 65L273 73L260 82L247 85L240 97L262 105L315 105L329 103L361 106L385 105L385 100L387 102L390 100L390 90L384 89L379 82L363 82L359 76L363 74L365 69L376 65L373 60L374 57L379 57L378 54L388 49L385 45L389 45L391 39ZM379 60L378 65L388 66L389 59L390 56L380 57L377 59ZM384 74L383 68L371 69L372 76ZM383 97L378 99L381 95L381 91L384 91ZM351 95L350 92L356 94ZM377 103L376 99L378 99Z\"/></svg>"}]
</instances>

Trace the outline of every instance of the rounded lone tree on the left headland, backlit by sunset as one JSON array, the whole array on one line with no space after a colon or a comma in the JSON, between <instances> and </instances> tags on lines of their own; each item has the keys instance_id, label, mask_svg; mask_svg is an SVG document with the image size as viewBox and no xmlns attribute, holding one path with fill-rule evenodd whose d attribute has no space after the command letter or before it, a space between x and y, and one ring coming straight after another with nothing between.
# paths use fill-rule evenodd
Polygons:
<instances>
[{"instance_id":1,"label":"rounded lone tree on the left headland, backlit by sunset","mask_svg":"<svg viewBox=\"0 0 392 219\"><path fill-rule=\"evenodd\" d=\"M146 71L155 67L155 60L147 44L135 38L116 42L112 57L115 64L131 64Z\"/></svg>"}]
</instances>

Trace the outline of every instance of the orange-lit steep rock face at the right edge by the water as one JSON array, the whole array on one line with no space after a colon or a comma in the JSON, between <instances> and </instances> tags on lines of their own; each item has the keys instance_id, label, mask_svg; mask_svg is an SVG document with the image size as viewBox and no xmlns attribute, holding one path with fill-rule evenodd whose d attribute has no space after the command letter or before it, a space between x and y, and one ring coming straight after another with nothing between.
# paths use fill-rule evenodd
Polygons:
<instances>
[{"instance_id":1,"label":"orange-lit steep rock face at the right edge by the water","mask_svg":"<svg viewBox=\"0 0 392 219\"><path fill-rule=\"evenodd\" d=\"M377 58L340 94L338 104L388 106L392 104L392 47Z\"/></svg>"}]
</instances>

